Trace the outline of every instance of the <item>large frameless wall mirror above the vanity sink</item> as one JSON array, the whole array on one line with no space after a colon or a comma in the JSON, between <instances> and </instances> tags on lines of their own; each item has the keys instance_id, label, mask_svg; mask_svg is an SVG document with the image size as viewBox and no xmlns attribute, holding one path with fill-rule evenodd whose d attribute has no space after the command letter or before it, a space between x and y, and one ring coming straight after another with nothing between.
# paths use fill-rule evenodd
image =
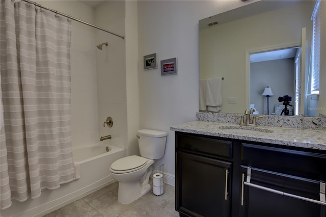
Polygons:
<instances>
[{"instance_id":1,"label":"large frameless wall mirror above the vanity sink","mask_svg":"<svg viewBox=\"0 0 326 217\"><path fill-rule=\"evenodd\" d=\"M290 115L323 116L326 96L308 91L314 7L315 1L259 1L200 20L199 110L243 113L254 106L280 115L289 104ZM209 95L211 84L222 94ZM262 95L266 87L273 96ZM207 98L218 106L207 106Z\"/></svg>"}]
</instances>

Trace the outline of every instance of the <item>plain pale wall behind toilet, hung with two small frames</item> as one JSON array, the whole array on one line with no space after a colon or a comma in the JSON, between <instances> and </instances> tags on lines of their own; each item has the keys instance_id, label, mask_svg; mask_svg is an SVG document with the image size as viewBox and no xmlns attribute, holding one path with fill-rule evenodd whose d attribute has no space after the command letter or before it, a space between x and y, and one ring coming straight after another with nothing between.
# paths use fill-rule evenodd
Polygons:
<instances>
[{"instance_id":1,"label":"plain pale wall behind toilet, hung with two small frames","mask_svg":"<svg viewBox=\"0 0 326 217\"><path fill-rule=\"evenodd\" d=\"M165 156L156 165L165 165L170 184L174 184L175 175L174 131L170 127L196 120L199 108L198 21L244 4L247 3L138 2L140 128L169 133ZM143 56L155 52L158 61L178 58L178 74L161 76L160 67L143 70Z\"/></svg>"}]
</instances>

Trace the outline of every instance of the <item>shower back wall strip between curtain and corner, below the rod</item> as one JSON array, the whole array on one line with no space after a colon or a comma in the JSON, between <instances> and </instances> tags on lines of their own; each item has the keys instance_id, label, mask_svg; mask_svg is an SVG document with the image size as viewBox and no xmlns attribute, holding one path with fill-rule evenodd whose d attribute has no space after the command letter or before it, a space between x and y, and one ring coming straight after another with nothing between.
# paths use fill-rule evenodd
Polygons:
<instances>
[{"instance_id":1,"label":"shower back wall strip between curtain and corner, below the rod","mask_svg":"<svg viewBox=\"0 0 326 217\"><path fill-rule=\"evenodd\" d=\"M99 132L95 57L96 31L76 22L73 23L72 30L71 133L72 146L75 148L97 143Z\"/></svg>"}]
</instances>

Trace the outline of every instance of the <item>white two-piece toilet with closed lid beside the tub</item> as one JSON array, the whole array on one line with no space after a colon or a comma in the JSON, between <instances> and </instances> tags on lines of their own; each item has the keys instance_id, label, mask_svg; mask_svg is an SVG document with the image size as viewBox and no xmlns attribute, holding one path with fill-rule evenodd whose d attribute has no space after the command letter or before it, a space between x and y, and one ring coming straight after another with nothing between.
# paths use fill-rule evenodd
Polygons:
<instances>
[{"instance_id":1,"label":"white two-piece toilet with closed lid beside the tub","mask_svg":"<svg viewBox=\"0 0 326 217\"><path fill-rule=\"evenodd\" d=\"M154 160L164 156L167 135L168 133L164 131L138 130L141 156L131 155L112 163L110 172L119 182L119 203L131 203L150 191L151 185L148 180L153 170L152 165Z\"/></svg>"}]
</instances>

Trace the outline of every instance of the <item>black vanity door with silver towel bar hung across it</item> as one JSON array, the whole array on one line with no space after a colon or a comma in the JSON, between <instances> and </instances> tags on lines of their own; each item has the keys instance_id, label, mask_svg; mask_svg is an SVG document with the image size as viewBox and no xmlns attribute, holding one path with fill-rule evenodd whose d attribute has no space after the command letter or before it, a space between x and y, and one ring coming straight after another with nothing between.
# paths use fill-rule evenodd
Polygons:
<instances>
[{"instance_id":1,"label":"black vanity door with silver towel bar hung across it","mask_svg":"<svg viewBox=\"0 0 326 217\"><path fill-rule=\"evenodd\" d=\"M241 216L326 216L319 195L324 182L246 166L241 172Z\"/></svg>"}]
</instances>

